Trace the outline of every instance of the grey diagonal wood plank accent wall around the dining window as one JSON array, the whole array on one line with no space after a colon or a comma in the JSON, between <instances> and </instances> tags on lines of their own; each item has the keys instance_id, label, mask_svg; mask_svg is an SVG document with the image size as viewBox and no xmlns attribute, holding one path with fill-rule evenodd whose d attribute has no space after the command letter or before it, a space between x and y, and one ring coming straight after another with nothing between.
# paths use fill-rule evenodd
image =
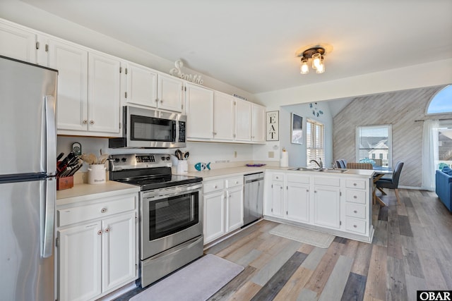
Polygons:
<instances>
[{"instance_id":1,"label":"grey diagonal wood plank accent wall around the dining window","mask_svg":"<svg viewBox=\"0 0 452 301\"><path fill-rule=\"evenodd\" d=\"M452 118L452 114L426 116L430 99L444 85L356 97L333 118L333 160L356 161L356 128L392 124L393 166L405 162L399 185L422 186L422 122Z\"/></svg>"}]
</instances>

